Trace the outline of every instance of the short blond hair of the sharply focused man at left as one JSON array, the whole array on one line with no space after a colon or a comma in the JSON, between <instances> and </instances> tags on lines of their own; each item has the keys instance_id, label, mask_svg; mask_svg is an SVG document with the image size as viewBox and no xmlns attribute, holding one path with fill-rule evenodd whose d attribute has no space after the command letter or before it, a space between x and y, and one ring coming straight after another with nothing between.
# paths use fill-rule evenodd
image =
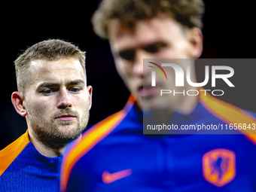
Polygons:
<instances>
[{"instance_id":1,"label":"short blond hair of the sharply focused man at left","mask_svg":"<svg viewBox=\"0 0 256 192\"><path fill-rule=\"evenodd\" d=\"M85 52L74 44L59 39L41 41L29 47L15 61L18 91L25 92L26 77L29 73L29 63L35 59L57 60L75 58L81 63L85 72Z\"/></svg>"}]
</instances>

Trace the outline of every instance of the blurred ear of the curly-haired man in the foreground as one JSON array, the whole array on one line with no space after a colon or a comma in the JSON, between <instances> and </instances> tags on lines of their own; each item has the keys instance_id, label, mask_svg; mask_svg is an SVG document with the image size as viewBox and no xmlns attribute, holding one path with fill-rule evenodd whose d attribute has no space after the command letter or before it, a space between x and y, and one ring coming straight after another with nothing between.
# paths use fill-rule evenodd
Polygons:
<instances>
[{"instance_id":1,"label":"blurred ear of the curly-haired man in the foreground","mask_svg":"<svg viewBox=\"0 0 256 192\"><path fill-rule=\"evenodd\" d=\"M197 59L203 53L203 33L198 27L188 29L187 38L190 42L190 57Z\"/></svg>"}]
</instances>

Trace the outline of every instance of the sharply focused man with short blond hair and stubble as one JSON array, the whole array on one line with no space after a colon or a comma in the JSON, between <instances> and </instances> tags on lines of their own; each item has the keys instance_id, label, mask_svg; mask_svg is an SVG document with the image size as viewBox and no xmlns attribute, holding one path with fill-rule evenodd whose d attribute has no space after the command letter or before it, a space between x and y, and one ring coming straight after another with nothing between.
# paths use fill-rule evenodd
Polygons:
<instances>
[{"instance_id":1,"label":"sharply focused man with short blond hair and stubble","mask_svg":"<svg viewBox=\"0 0 256 192\"><path fill-rule=\"evenodd\" d=\"M87 126L92 87L84 52L52 39L15 60L18 91L11 95L28 130L0 151L1 191L58 191L62 151Z\"/></svg>"}]
</instances>

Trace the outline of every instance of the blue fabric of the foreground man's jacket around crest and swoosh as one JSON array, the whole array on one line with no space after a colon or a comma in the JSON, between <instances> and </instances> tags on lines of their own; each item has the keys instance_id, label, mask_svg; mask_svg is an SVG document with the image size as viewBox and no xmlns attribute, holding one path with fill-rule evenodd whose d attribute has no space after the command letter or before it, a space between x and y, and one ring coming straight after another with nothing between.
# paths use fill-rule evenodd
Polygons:
<instances>
[{"instance_id":1,"label":"blue fabric of the foreground man's jacket around crest and swoosh","mask_svg":"<svg viewBox=\"0 0 256 192\"><path fill-rule=\"evenodd\" d=\"M200 102L189 115L174 113L171 123L224 124ZM203 177L203 154L216 148L236 154L236 177L223 187ZM102 182L102 172L125 169L132 169L132 175ZM242 134L143 135L142 113L133 106L108 136L78 160L68 191L256 191L256 146Z\"/></svg>"}]
</instances>

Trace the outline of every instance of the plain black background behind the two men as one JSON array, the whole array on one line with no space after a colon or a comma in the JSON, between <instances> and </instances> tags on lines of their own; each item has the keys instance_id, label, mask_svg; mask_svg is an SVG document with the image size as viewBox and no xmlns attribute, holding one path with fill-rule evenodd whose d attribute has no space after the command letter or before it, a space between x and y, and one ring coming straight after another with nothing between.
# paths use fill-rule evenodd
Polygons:
<instances>
[{"instance_id":1,"label":"plain black background behind the two men","mask_svg":"<svg viewBox=\"0 0 256 192\"><path fill-rule=\"evenodd\" d=\"M130 93L114 68L108 41L97 37L90 23L99 2L64 1L56 5L12 2L2 6L0 149L26 131L25 118L17 114L11 103L11 93L17 90L14 60L22 50L39 41L60 38L87 52L87 84L93 86L89 125L123 108ZM255 58L254 10L250 2L205 3L201 58ZM245 69L242 63L236 66L232 79L236 91L225 92L221 99L256 111L255 69L256 66Z\"/></svg>"}]
</instances>

